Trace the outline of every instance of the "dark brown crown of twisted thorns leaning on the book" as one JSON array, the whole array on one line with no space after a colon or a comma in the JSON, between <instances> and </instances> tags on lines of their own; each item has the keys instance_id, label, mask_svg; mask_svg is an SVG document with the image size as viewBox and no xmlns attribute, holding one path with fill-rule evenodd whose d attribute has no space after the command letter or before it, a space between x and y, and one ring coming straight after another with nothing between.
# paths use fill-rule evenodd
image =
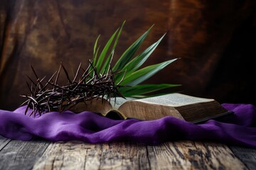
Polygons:
<instances>
[{"instance_id":1,"label":"dark brown crown of twisted thorns leaning on the book","mask_svg":"<svg viewBox=\"0 0 256 170\"><path fill-rule=\"evenodd\" d=\"M118 91L118 88L121 87L119 84L122 80L117 84L114 81L114 76L121 72L113 72L111 66L100 74L90 61L87 69L82 69L80 63L75 77L71 80L63 64L60 64L58 71L56 71L48 81L44 81L46 77L39 79L32 66L31 69L36 77L36 81L33 81L31 77L27 76L31 81L31 84L26 81L31 94L21 95L27 98L27 100L21 104L21 106L27 105L25 114L27 114L28 108L32 108L29 116L36 115L36 113L41 115L42 113L48 113L50 111L62 112L80 102L91 101L94 98L110 99L116 98L117 96L124 98ZM58 84L61 70L65 72L65 76L68 79L68 84L65 86ZM81 71L82 76L78 78L78 74Z\"/></svg>"}]
</instances>

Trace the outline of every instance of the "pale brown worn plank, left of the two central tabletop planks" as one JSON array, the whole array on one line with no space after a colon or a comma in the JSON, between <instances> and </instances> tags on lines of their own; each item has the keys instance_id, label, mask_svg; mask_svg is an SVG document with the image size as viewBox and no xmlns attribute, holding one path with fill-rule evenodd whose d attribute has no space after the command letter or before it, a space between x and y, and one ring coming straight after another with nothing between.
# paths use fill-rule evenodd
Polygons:
<instances>
[{"instance_id":1,"label":"pale brown worn plank, left of the two central tabletop planks","mask_svg":"<svg viewBox=\"0 0 256 170\"><path fill-rule=\"evenodd\" d=\"M46 149L33 169L139 169L141 166L149 168L145 145L56 142Z\"/></svg>"}]
</instances>

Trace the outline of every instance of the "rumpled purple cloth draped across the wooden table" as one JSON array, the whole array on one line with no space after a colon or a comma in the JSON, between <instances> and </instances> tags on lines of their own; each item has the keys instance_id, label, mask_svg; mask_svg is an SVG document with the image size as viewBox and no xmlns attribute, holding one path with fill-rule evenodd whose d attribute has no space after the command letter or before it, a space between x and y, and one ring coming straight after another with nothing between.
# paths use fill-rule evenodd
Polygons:
<instances>
[{"instance_id":1,"label":"rumpled purple cloth draped across the wooden table","mask_svg":"<svg viewBox=\"0 0 256 170\"><path fill-rule=\"evenodd\" d=\"M111 120L95 113L47 113L39 118L0 110L0 135L15 140L41 137L50 141L81 140L90 143L135 141L146 144L174 140L212 140L256 147L256 108L250 104L223 104L234 115L194 125L173 117L159 120Z\"/></svg>"}]
</instances>

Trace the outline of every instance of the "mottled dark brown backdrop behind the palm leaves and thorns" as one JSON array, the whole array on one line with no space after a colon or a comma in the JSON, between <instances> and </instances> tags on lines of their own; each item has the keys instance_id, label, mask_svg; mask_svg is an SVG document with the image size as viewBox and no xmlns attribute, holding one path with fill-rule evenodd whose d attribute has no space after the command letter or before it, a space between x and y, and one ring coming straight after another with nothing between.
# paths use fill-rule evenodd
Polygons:
<instances>
[{"instance_id":1,"label":"mottled dark brown backdrop behind the palm leaves and thorns","mask_svg":"<svg viewBox=\"0 0 256 170\"><path fill-rule=\"evenodd\" d=\"M2 0L0 1L0 108L23 101L30 64L48 77L60 62L72 72L104 45L122 22L115 59L150 26L142 50L167 32L146 64L181 59L146 83L182 84L184 94L220 103L256 104L255 0Z\"/></svg>"}]
</instances>

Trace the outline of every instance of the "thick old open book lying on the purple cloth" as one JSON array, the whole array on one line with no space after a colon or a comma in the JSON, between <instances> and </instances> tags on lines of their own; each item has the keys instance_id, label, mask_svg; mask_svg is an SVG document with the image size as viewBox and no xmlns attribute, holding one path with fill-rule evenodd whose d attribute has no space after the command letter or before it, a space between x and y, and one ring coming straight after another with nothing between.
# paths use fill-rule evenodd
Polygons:
<instances>
[{"instance_id":1,"label":"thick old open book lying on the purple cloth","mask_svg":"<svg viewBox=\"0 0 256 170\"><path fill-rule=\"evenodd\" d=\"M142 99L117 98L116 102L97 99L80 103L72 110L92 111L114 119L156 120L171 115L192 123L230 114L214 99L177 93Z\"/></svg>"}]
</instances>

